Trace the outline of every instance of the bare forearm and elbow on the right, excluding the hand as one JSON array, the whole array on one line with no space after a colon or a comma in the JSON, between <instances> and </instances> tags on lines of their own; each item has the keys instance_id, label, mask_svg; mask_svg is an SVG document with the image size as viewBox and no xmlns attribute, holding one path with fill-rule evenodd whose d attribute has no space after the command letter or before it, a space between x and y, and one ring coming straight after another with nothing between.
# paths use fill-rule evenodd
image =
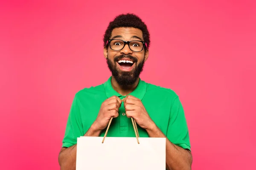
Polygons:
<instances>
[{"instance_id":1,"label":"bare forearm and elbow on the right, excluding the hand","mask_svg":"<svg viewBox=\"0 0 256 170\"><path fill-rule=\"evenodd\" d=\"M166 138L166 168L167 170L191 170L192 154L190 150L183 149L172 142L153 125L147 129L149 137Z\"/></svg>"}]
</instances>

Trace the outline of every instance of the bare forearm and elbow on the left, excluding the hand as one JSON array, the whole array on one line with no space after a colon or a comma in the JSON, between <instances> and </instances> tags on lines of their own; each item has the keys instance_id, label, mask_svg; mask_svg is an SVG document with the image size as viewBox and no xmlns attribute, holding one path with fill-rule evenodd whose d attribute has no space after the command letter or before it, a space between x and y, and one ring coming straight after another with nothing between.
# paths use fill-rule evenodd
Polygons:
<instances>
[{"instance_id":1,"label":"bare forearm and elbow on the left, excluding the hand","mask_svg":"<svg viewBox=\"0 0 256 170\"><path fill-rule=\"evenodd\" d=\"M84 136L99 136L101 130L92 125ZM58 156L61 170L76 170L76 144L62 147Z\"/></svg>"}]
</instances>

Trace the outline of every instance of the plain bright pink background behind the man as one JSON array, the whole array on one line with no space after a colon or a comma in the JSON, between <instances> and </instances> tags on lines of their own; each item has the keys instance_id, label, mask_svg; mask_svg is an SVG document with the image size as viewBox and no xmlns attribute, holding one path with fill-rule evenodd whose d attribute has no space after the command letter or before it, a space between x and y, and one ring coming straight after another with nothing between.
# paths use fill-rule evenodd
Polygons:
<instances>
[{"instance_id":1,"label":"plain bright pink background behind the man","mask_svg":"<svg viewBox=\"0 0 256 170\"><path fill-rule=\"evenodd\" d=\"M73 97L111 75L102 37L126 12L151 33L141 78L183 103L192 169L254 169L255 1L16 0L0 3L1 170L59 169Z\"/></svg>"}]
</instances>

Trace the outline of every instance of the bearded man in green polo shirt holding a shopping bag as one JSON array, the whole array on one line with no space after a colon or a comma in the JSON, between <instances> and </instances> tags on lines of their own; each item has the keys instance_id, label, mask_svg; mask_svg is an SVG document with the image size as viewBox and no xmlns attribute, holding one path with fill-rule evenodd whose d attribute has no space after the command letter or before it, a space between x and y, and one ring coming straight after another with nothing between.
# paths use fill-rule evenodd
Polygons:
<instances>
[{"instance_id":1,"label":"bearded man in green polo shirt holding a shopping bag","mask_svg":"<svg viewBox=\"0 0 256 170\"><path fill-rule=\"evenodd\" d=\"M76 169L77 137L104 136L111 117L108 136L134 137L132 117L140 137L166 138L168 170L191 169L189 133L179 97L140 79L149 45L147 26L136 15L121 14L109 23L104 56L112 76L75 95L58 158L61 170Z\"/></svg>"}]
</instances>

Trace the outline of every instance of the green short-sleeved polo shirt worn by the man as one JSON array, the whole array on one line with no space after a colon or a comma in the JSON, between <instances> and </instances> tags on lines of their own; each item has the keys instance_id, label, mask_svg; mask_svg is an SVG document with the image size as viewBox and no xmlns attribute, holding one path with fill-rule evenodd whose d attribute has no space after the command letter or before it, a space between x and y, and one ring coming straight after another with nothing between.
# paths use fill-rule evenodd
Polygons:
<instances>
[{"instance_id":1,"label":"green short-sleeved polo shirt worn by the man","mask_svg":"<svg viewBox=\"0 0 256 170\"><path fill-rule=\"evenodd\" d=\"M129 95L141 100L151 119L173 144L190 150L186 118L180 99L174 91L140 79L137 88ZM77 137L84 136L95 121L102 102L111 96L125 98L112 88L111 77L102 85L84 88L76 93L68 116L62 147L70 147L76 144ZM140 126L138 131L140 137L148 137L146 130ZM100 136L104 134L105 130L102 130ZM123 102L119 108L119 116L113 118L107 136L135 137L131 118L125 115Z\"/></svg>"}]
</instances>

